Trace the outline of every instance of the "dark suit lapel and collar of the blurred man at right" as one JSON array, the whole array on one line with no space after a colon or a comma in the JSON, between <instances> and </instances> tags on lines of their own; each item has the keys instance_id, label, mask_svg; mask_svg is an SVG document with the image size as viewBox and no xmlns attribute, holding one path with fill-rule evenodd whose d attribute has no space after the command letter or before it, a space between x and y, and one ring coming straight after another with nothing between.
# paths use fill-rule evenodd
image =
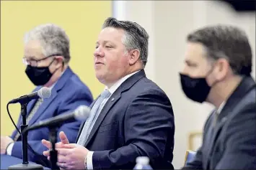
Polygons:
<instances>
[{"instance_id":1,"label":"dark suit lapel and collar of the blurred man at right","mask_svg":"<svg viewBox=\"0 0 256 170\"><path fill-rule=\"evenodd\" d=\"M224 105L224 108L221 110L221 113L219 113L216 126L213 127L213 133L210 133L211 142L209 143L208 154L206 155L206 169L214 169L215 167L210 167L210 160L211 155L213 153L214 144L216 143L216 140L219 136L219 133L221 132L221 129L223 128L226 120L229 118L229 116L232 114L234 108L236 107L237 103L246 95L252 88L255 87L255 82L252 80L252 77L244 77L242 82L237 86L237 88L234 90L234 93L231 94L229 99L226 101L226 104ZM213 124L213 118L211 118L211 124Z\"/></svg>"}]
</instances>

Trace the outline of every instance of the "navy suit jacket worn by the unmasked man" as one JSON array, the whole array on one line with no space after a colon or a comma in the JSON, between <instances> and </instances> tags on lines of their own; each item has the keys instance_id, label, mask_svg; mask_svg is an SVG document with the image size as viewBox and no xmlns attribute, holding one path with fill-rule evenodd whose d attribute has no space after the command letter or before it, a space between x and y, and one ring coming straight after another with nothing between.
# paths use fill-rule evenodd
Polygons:
<instances>
[{"instance_id":1,"label":"navy suit jacket worn by the unmasked man","mask_svg":"<svg viewBox=\"0 0 256 170\"><path fill-rule=\"evenodd\" d=\"M133 169L137 156L148 156L154 169L173 169L174 134L169 98L141 70L107 100L85 147L94 151L93 169Z\"/></svg>"}]
</instances>

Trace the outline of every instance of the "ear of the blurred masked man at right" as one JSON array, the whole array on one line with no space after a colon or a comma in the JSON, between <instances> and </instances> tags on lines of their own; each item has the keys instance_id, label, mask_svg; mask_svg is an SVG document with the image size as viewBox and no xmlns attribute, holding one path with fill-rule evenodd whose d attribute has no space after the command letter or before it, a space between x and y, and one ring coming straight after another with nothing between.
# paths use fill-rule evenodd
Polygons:
<instances>
[{"instance_id":1,"label":"ear of the blurred masked man at right","mask_svg":"<svg viewBox=\"0 0 256 170\"><path fill-rule=\"evenodd\" d=\"M224 58L219 59L216 63L216 79L219 81L224 80L226 75L229 74L229 70L229 62Z\"/></svg>"}]
</instances>

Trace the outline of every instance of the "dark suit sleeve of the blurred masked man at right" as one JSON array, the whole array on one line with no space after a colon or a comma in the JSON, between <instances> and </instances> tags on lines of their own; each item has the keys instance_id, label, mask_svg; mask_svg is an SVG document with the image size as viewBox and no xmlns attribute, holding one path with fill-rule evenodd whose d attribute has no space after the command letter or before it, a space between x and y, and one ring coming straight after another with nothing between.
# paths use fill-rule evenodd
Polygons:
<instances>
[{"instance_id":1,"label":"dark suit sleeve of the blurred masked man at right","mask_svg":"<svg viewBox=\"0 0 256 170\"><path fill-rule=\"evenodd\" d=\"M256 169L256 103L231 119L224 155L216 169Z\"/></svg>"}]
</instances>

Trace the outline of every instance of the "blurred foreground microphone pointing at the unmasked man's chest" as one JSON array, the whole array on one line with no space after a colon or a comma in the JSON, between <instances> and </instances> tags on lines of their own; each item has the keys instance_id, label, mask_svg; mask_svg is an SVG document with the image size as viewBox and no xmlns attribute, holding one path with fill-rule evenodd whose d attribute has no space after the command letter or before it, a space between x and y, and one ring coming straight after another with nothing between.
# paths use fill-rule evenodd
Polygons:
<instances>
[{"instance_id":1,"label":"blurred foreground microphone pointing at the unmasked man's chest","mask_svg":"<svg viewBox=\"0 0 256 170\"><path fill-rule=\"evenodd\" d=\"M89 117L90 108L87 105L80 105L73 113L67 113L62 115L57 115L53 118L45 119L44 121L39 121L33 126L25 129L23 133L31 131L37 128L43 128L46 126L58 126L60 123L70 123L74 121L86 121Z\"/></svg>"}]
</instances>

